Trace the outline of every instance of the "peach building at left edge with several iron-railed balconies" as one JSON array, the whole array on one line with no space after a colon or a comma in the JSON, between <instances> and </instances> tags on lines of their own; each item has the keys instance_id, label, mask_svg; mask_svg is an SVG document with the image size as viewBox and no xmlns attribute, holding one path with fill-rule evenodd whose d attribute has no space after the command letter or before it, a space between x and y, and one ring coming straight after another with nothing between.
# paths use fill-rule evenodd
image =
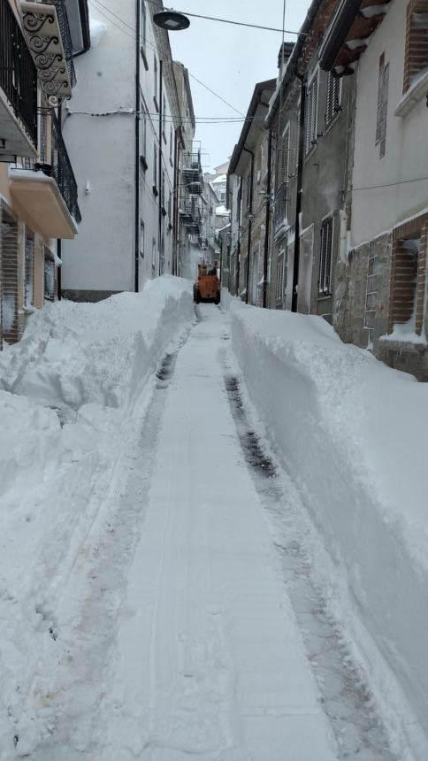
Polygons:
<instances>
[{"instance_id":1,"label":"peach building at left edge with several iron-railed balconies","mask_svg":"<svg viewBox=\"0 0 428 761\"><path fill-rule=\"evenodd\" d=\"M19 341L27 316L57 298L62 245L78 232L62 126L73 57L89 45L86 2L39 3L35 14L0 0L0 345Z\"/></svg>"}]
</instances>

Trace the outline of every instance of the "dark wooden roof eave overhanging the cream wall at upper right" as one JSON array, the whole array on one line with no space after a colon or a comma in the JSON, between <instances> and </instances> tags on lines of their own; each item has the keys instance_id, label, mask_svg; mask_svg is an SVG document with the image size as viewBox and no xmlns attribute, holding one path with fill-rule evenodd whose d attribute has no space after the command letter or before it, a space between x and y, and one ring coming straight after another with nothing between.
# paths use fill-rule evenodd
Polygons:
<instances>
[{"instance_id":1,"label":"dark wooden roof eave overhanging the cream wall at upper right","mask_svg":"<svg viewBox=\"0 0 428 761\"><path fill-rule=\"evenodd\" d=\"M390 0L342 0L321 46L319 65L337 75L354 73L367 40L385 17Z\"/></svg>"}]
</instances>

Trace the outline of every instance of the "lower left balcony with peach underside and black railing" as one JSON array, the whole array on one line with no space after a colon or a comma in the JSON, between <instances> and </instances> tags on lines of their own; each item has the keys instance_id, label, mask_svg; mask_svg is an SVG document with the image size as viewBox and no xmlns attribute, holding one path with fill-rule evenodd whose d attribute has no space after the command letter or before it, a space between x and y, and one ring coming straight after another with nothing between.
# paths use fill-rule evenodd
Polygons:
<instances>
[{"instance_id":1,"label":"lower left balcony with peach underside and black railing","mask_svg":"<svg viewBox=\"0 0 428 761\"><path fill-rule=\"evenodd\" d=\"M77 183L53 112L42 114L39 162L11 168L9 183L29 227L46 238L74 238L81 219Z\"/></svg>"}]
</instances>

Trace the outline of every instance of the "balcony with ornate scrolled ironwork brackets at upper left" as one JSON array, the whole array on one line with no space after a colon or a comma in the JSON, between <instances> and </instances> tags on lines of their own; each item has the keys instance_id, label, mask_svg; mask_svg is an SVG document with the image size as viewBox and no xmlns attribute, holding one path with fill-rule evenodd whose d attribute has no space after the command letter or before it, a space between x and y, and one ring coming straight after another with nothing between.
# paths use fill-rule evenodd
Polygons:
<instances>
[{"instance_id":1,"label":"balcony with ornate scrolled ironwork brackets at upper left","mask_svg":"<svg viewBox=\"0 0 428 761\"><path fill-rule=\"evenodd\" d=\"M50 106L72 96L76 84L73 46L64 0L20 4L23 32Z\"/></svg>"}]
</instances>

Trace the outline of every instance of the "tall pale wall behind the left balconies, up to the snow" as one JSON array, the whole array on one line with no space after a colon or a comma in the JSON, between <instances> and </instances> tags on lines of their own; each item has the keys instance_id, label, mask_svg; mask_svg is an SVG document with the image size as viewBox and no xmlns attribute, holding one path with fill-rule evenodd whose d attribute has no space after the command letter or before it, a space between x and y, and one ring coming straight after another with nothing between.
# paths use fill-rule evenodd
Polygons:
<instances>
[{"instance_id":1,"label":"tall pale wall behind the left balconies, up to the snow","mask_svg":"<svg viewBox=\"0 0 428 761\"><path fill-rule=\"evenodd\" d=\"M111 12L135 28L135 0L111 0ZM155 88L155 36L149 9L146 14L146 57L141 57L141 94L147 111L147 170L141 166L141 220L144 245L139 250L139 288L159 273L158 196L153 193L154 145L159 141L159 117L153 100ZM92 47L75 59L78 84L68 104L74 113L65 118L64 136L79 186L82 215L79 234L63 244L65 289L115 291L134 290L134 134L135 66L134 40L129 27L112 24L91 8ZM100 25L104 25L104 30ZM120 27L120 28L118 28ZM124 31L123 29L126 29ZM97 35L98 31L103 34ZM159 101L159 58L157 52L157 103ZM172 163L170 161L171 107L166 96L165 137L162 140L165 172L165 207L173 186L174 129L172 126ZM75 113L101 113L121 108L128 113L95 117ZM157 159L157 186L159 185ZM88 193L85 192L88 189ZM173 208L173 201L172 207ZM169 217L162 217L165 272L172 267L172 229ZM171 219L172 224L172 219ZM140 228L142 231L142 227ZM152 242L155 241L155 247ZM152 253L153 252L153 253Z\"/></svg>"}]
</instances>

